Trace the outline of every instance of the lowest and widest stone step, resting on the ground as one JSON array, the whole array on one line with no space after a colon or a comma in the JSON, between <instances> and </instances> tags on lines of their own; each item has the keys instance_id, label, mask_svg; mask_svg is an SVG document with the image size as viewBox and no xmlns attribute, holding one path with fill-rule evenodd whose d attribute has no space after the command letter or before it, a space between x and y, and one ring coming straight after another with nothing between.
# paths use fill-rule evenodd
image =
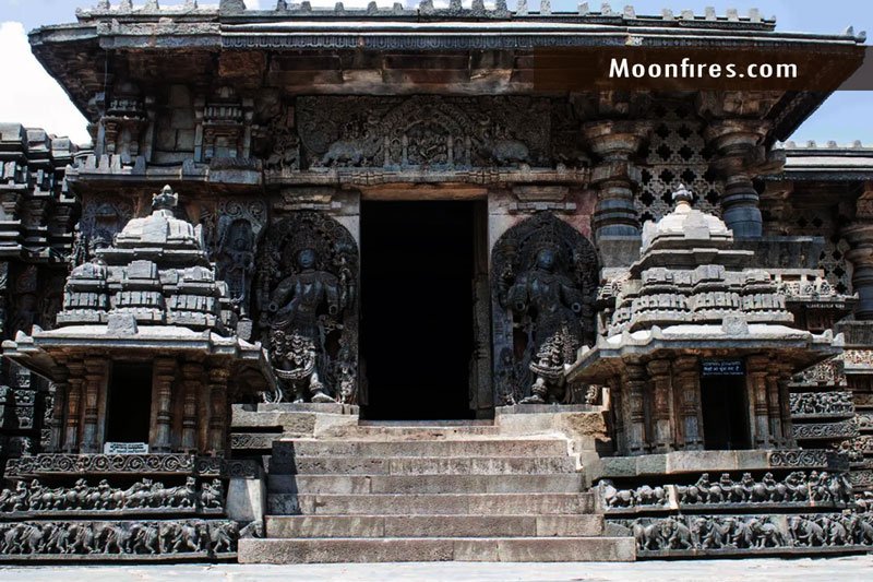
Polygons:
<instances>
[{"instance_id":1,"label":"lowest and widest stone step, resting on the ground","mask_svg":"<svg viewBox=\"0 0 873 582\"><path fill-rule=\"evenodd\" d=\"M632 537L247 538L240 563L633 561Z\"/></svg>"}]
</instances>

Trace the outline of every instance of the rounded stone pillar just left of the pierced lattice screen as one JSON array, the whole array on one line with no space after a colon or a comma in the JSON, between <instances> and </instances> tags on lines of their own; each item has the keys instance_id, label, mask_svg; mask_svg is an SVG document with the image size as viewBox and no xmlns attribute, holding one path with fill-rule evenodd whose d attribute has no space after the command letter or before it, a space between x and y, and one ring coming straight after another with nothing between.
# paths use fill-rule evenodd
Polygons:
<instances>
[{"instance_id":1,"label":"rounded stone pillar just left of the pierced lattice screen","mask_svg":"<svg viewBox=\"0 0 873 582\"><path fill-rule=\"evenodd\" d=\"M605 237L639 236L634 190L642 175L631 158L650 129L648 122L629 120L591 121L583 126L588 147L598 158L591 174L591 183L598 189L593 221L598 246L602 246Z\"/></svg>"}]
</instances>

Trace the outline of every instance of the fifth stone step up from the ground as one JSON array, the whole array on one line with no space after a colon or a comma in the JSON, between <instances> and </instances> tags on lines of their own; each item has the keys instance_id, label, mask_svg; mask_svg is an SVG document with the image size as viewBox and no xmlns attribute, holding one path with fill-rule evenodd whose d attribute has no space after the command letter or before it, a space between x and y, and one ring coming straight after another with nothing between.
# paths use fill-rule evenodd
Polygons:
<instances>
[{"instance_id":1,"label":"fifth stone step up from the ground","mask_svg":"<svg viewBox=\"0 0 873 582\"><path fill-rule=\"evenodd\" d=\"M294 456L277 459L271 474L286 475L530 475L575 473L563 456Z\"/></svg>"}]
</instances>

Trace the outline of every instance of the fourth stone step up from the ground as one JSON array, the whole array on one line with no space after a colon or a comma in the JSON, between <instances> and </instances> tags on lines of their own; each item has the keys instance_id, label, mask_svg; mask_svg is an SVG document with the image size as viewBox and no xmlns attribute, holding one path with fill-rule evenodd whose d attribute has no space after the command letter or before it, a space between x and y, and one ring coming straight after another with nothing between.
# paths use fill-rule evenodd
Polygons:
<instances>
[{"instance_id":1,"label":"fourth stone step up from the ground","mask_svg":"<svg viewBox=\"0 0 873 582\"><path fill-rule=\"evenodd\" d=\"M273 494L561 494L581 491L578 473L525 475L271 475Z\"/></svg>"}]
</instances>

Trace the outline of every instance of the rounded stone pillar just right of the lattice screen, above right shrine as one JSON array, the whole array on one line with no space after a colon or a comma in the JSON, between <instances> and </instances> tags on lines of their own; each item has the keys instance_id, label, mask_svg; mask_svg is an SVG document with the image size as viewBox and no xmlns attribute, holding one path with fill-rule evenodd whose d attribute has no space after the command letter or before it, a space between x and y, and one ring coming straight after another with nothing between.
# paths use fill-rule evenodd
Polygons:
<instances>
[{"instance_id":1,"label":"rounded stone pillar just right of the lattice screen, above right shrine","mask_svg":"<svg viewBox=\"0 0 873 582\"><path fill-rule=\"evenodd\" d=\"M706 140L717 152L711 168L725 182L721 217L738 238L762 235L758 193L752 178L765 159L761 144L768 129L768 122L758 119L714 121L706 129Z\"/></svg>"}]
</instances>

